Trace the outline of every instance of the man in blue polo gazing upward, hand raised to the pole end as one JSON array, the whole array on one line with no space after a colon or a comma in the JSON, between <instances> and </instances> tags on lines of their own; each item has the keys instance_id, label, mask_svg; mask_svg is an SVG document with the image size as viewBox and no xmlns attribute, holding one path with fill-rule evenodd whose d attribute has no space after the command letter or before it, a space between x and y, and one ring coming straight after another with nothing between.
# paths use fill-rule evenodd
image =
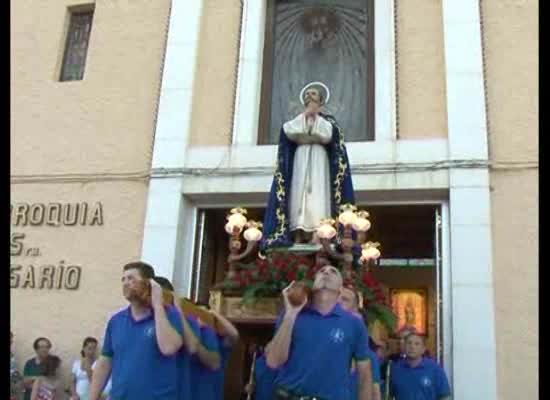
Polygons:
<instances>
[{"instance_id":1,"label":"man in blue polo gazing upward, hand raised to the pole end","mask_svg":"<svg viewBox=\"0 0 550 400\"><path fill-rule=\"evenodd\" d=\"M325 265L313 283L311 304L289 301L294 282L283 290L284 314L266 349L267 365L278 369L274 399L350 400L351 360L357 361L359 399L371 400L368 333L338 304L342 275Z\"/></svg>"}]
</instances>

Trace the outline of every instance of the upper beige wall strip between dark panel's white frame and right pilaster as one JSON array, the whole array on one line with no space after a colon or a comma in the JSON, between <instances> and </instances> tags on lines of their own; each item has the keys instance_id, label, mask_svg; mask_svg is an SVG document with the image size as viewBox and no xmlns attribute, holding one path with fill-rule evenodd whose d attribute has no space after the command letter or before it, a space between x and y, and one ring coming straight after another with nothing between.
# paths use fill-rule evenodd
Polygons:
<instances>
[{"instance_id":1,"label":"upper beige wall strip between dark panel's white frame and right pilaster","mask_svg":"<svg viewBox=\"0 0 550 400\"><path fill-rule=\"evenodd\" d=\"M396 1L399 139L447 136L440 1Z\"/></svg>"}]
</instances>

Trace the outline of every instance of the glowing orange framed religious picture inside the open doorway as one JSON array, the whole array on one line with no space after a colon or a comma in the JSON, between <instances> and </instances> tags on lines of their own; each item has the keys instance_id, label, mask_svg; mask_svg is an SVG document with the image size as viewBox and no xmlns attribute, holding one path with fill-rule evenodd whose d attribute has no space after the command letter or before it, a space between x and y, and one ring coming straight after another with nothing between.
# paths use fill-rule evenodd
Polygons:
<instances>
[{"instance_id":1,"label":"glowing orange framed religious picture inside the open doorway","mask_svg":"<svg viewBox=\"0 0 550 400\"><path fill-rule=\"evenodd\" d=\"M428 333L428 291L426 289L391 289L392 310L397 317L395 332L413 327L421 335Z\"/></svg>"}]
</instances>

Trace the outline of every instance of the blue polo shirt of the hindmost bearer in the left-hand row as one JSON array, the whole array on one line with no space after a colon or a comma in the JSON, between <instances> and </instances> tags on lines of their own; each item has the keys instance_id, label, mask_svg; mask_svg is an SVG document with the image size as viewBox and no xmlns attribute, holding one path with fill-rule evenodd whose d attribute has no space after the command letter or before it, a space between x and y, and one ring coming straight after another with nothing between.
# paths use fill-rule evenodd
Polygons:
<instances>
[{"instance_id":1,"label":"blue polo shirt of the hindmost bearer in the left-hand row","mask_svg":"<svg viewBox=\"0 0 550 400\"><path fill-rule=\"evenodd\" d=\"M212 328L202 326L200 335L201 344L206 350L220 353L219 341ZM191 395L193 400L216 399L216 373L206 367L196 355L191 357Z\"/></svg>"}]
</instances>

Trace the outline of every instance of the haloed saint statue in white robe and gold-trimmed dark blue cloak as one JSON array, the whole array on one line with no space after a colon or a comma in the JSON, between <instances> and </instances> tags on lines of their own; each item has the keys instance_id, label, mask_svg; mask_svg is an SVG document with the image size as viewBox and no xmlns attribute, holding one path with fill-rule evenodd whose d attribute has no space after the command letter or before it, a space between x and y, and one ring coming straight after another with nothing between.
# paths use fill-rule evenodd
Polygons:
<instances>
[{"instance_id":1,"label":"haloed saint statue in white robe and gold-trimmed dark blue cloak","mask_svg":"<svg viewBox=\"0 0 550 400\"><path fill-rule=\"evenodd\" d=\"M311 241L321 219L354 203L344 134L336 119L321 111L329 99L326 85L309 83L300 93L304 112L281 128L262 249Z\"/></svg>"}]
</instances>

